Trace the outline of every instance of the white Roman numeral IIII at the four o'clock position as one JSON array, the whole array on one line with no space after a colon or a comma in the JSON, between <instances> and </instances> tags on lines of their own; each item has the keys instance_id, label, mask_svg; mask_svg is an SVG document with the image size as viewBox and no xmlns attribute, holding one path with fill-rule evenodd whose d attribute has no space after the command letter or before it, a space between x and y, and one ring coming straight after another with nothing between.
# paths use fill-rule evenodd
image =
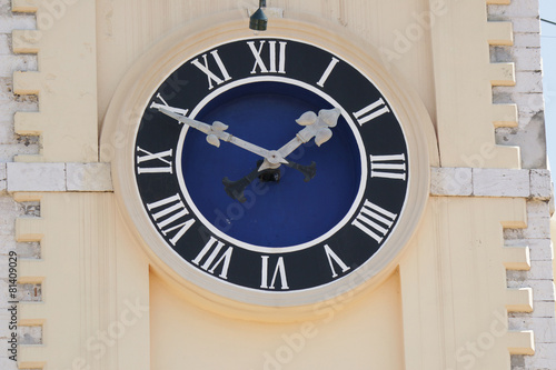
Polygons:
<instances>
[{"instance_id":1,"label":"white Roman numeral IIII at the four o'clock position","mask_svg":"<svg viewBox=\"0 0 556 370\"><path fill-rule=\"evenodd\" d=\"M389 212L365 200L357 218L351 222L353 226L365 232L377 242L381 242L388 230L394 224L398 216Z\"/></svg>"}]
</instances>

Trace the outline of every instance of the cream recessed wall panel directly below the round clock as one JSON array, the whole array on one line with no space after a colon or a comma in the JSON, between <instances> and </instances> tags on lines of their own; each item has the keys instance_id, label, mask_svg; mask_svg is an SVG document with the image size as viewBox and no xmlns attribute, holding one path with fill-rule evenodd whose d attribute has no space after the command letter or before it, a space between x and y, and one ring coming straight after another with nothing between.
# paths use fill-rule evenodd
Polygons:
<instances>
[{"instance_id":1,"label":"cream recessed wall panel directly below the round clock","mask_svg":"<svg viewBox=\"0 0 556 370\"><path fill-rule=\"evenodd\" d=\"M199 309L150 276L151 369L404 369L398 273L376 291L294 322L230 319Z\"/></svg>"}]
</instances>

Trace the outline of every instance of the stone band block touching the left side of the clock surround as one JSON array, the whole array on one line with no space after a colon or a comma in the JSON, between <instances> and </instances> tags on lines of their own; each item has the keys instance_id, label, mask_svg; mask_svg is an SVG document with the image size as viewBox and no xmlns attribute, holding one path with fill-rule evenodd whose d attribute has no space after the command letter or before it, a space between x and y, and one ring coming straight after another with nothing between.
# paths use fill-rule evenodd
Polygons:
<instances>
[{"instance_id":1,"label":"stone band block touching the left side of the clock surround","mask_svg":"<svg viewBox=\"0 0 556 370\"><path fill-rule=\"evenodd\" d=\"M110 163L67 163L68 191L112 191Z\"/></svg>"}]
</instances>

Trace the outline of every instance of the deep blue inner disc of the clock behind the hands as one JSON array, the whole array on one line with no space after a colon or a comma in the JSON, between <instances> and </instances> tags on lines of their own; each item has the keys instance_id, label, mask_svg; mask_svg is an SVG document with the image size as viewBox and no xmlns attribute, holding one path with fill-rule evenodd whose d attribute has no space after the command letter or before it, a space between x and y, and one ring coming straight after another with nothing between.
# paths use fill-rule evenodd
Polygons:
<instances>
[{"instance_id":1,"label":"deep blue inner disc of the clock behind the hands","mask_svg":"<svg viewBox=\"0 0 556 370\"><path fill-rule=\"evenodd\" d=\"M297 86L252 82L224 92L196 119L225 122L234 136L278 149L302 129L296 123L302 113L329 108L334 107ZM186 130L181 168L187 192L199 213L230 238L261 247L306 243L340 222L356 199L360 152L344 118L320 148L310 141L288 156L301 166L316 163L310 181L281 166L279 181L257 178L246 188L245 202L226 193L222 179L240 180L257 169L260 158L226 142L216 148L207 143L205 133Z\"/></svg>"}]
</instances>

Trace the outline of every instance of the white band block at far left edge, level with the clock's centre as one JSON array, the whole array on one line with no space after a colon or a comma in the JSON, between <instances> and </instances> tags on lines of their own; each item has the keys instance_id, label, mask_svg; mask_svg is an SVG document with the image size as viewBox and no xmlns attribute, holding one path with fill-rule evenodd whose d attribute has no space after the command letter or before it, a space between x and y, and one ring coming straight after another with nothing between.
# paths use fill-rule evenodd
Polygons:
<instances>
[{"instance_id":1,"label":"white band block at far left edge, level with the clock's centre","mask_svg":"<svg viewBox=\"0 0 556 370\"><path fill-rule=\"evenodd\" d=\"M66 191L66 164L8 163L8 191Z\"/></svg>"}]
</instances>

